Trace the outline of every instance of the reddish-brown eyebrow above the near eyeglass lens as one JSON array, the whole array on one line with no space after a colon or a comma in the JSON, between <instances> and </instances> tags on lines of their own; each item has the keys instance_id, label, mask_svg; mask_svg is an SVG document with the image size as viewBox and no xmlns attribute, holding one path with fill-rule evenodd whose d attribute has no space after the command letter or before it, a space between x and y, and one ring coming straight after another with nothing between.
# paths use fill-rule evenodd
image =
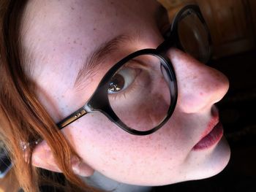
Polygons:
<instances>
[{"instance_id":1,"label":"reddish-brown eyebrow above the near eyeglass lens","mask_svg":"<svg viewBox=\"0 0 256 192\"><path fill-rule=\"evenodd\" d=\"M135 36L129 36L127 34L121 34L113 39L110 39L108 42L104 42L95 50L93 50L86 60L83 62L83 66L78 70L78 75L75 79L74 88L78 88L85 78L93 75L100 64L109 58L114 53L118 52L121 47L128 42L134 42L136 39Z\"/></svg>"}]
</instances>

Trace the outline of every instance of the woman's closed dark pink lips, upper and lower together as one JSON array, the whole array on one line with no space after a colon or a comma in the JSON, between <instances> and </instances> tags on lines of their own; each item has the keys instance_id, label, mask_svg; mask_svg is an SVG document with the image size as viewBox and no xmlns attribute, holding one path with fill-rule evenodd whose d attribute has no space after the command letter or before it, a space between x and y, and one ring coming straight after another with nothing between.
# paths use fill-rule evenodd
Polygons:
<instances>
[{"instance_id":1,"label":"woman's closed dark pink lips, upper and lower together","mask_svg":"<svg viewBox=\"0 0 256 192\"><path fill-rule=\"evenodd\" d=\"M215 145L223 136L223 127L222 123L219 122L219 115L217 108L214 107L212 110L213 117L206 130L203 132L201 139L197 144L192 148L192 150L204 150L213 145Z\"/></svg>"}]
</instances>

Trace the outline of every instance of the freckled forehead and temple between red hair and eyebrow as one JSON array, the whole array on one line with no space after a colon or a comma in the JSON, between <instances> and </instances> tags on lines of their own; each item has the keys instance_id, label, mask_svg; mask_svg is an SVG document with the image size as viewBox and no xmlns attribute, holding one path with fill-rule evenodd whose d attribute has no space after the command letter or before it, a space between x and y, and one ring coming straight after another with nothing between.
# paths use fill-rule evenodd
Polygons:
<instances>
[{"instance_id":1,"label":"freckled forehead and temple between red hair and eyebrow","mask_svg":"<svg viewBox=\"0 0 256 192\"><path fill-rule=\"evenodd\" d=\"M70 106L80 107L81 103L73 104L78 93L72 88L91 51L119 35L146 31L145 28L152 26L157 7L159 4L154 0L30 0L20 33L25 68L29 69L29 76L39 87L42 104L49 109L53 104L59 105L56 108L63 105L69 109ZM143 33L143 38L147 34L151 33ZM86 101L93 93L97 80L102 77L99 71L97 75L86 82L89 86L83 94L87 95L79 101ZM45 103L45 98L49 104Z\"/></svg>"}]
</instances>

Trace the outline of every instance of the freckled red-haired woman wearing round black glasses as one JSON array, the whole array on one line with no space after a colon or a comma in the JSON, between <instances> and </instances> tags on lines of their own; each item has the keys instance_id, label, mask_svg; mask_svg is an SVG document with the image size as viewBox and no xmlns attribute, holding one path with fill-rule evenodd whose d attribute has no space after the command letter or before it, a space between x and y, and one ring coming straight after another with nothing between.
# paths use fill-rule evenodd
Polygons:
<instances>
[{"instance_id":1,"label":"freckled red-haired woman wearing round black glasses","mask_svg":"<svg viewBox=\"0 0 256 192\"><path fill-rule=\"evenodd\" d=\"M34 167L88 191L94 172L154 186L224 169L214 104L228 80L191 56L209 55L199 10L177 17L166 33L157 1L1 1L1 137L25 191L38 189ZM182 34L184 18L201 37Z\"/></svg>"}]
</instances>

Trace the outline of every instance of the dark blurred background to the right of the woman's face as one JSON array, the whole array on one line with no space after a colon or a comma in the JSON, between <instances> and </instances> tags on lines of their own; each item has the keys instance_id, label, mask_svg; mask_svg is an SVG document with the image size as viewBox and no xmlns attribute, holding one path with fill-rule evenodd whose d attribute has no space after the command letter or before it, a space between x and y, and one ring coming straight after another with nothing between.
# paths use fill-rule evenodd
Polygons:
<instances>
[{"instance_id":1,"label":"dark blurred background to the right of the woman's face","mask_svg":"<svg viewBox=\"0 0 256 192\"><path fill-rule=\"evenodd\" d=\"M230 163L220 174L168 186L163 191L256 191L256 1L159 0L170 20L186 4L198 4L211 32L213 60L230 80L219 115L230 143Z\"/></svg>"}]
</instances>

